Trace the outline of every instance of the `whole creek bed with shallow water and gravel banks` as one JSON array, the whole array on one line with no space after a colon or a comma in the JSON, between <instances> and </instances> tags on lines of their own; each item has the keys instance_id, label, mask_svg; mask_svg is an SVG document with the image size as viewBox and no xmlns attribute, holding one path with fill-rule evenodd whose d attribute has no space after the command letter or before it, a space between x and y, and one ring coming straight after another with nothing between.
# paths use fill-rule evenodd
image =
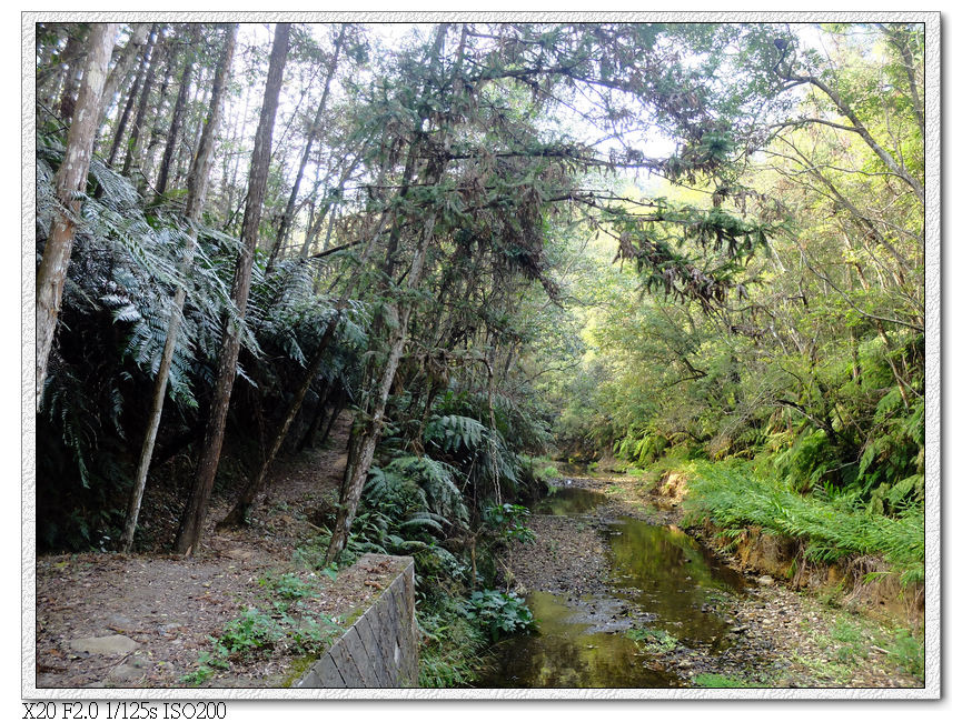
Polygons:
<instances>
[{"instance_id":1,"label":"whole creek bed with shallow water and gravel banks","mask_svg":"<svg viewBox=\"0 0 962 722\"><path fill-rule=\"evenodd\" d=\"M736 570L636 479L558 481L509 556L542 633L503 643L483 686L922 685L867 620Z\"/></svg>"}]
</instances>

